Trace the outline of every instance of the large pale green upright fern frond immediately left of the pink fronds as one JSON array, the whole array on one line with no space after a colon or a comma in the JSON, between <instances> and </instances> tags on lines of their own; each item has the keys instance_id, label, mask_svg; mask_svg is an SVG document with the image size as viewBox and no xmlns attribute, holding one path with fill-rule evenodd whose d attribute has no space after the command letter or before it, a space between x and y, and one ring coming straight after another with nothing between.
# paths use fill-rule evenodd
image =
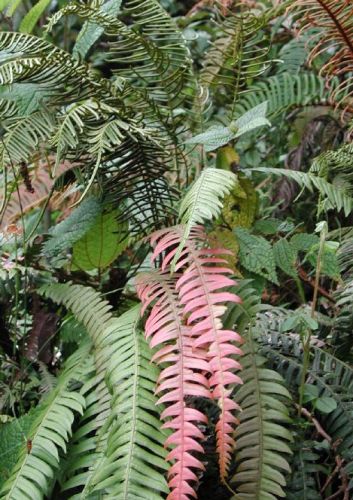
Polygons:
<instances>
[{"instance_id":1,"label":"large pale green upright fern frond immediately left of the pink fronds","mask_svg":"<svg viewBox=\"0 0 353 500\"><path fill-rule=\"evenodd\" d=\"M168 434L161 430L153 394L159 370L151 365L152 351L139 321L137 306L114 320L105 333L104 347L110 356L106 381L113 395L115 423L92 491L106 491L111 499L160 500L169 491L163 476L168 468L163 448Z\"/></svg>"}]
</instances>

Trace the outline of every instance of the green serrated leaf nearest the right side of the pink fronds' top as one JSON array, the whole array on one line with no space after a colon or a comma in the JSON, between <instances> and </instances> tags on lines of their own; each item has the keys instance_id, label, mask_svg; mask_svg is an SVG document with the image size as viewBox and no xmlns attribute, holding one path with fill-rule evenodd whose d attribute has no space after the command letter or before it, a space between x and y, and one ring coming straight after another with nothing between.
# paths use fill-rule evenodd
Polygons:
<instances>
[{"instance_id":1,"label":"green serrated leaf nearest the right side of the pink fronds' top","mask_svg":"<svg viewBox=\"0 0 353 500\"><path fill-rule=\"evenodd\" d=\"M270 243L262 236L255 236L244 228L234 230L239 243L239 260L249 271L278 284L276 264Z\"/></svg>"}]
</instances>

